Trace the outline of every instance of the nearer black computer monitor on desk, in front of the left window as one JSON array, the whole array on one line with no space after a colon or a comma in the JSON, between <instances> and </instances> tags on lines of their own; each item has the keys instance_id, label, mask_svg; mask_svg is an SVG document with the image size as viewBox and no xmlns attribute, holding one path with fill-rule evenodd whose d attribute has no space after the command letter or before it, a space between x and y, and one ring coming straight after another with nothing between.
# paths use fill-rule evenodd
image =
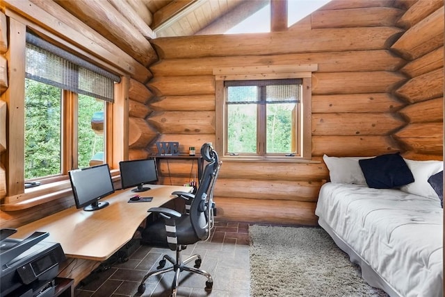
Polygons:
<instances>
[{"instance_id":1,"label":"nearer black computer monitor on desk, in front of the left window","mask_svg":"<svg viewBox=\"0 0 445 297\"><path fill-rule=\"evenodd\" d=\"M74 194L76 207L86 211L100 210L108 206L108 202L99 202L114 192L108 164L100 164L83 169L74 169L68 172Z\"/></svg>"}]
</instances>

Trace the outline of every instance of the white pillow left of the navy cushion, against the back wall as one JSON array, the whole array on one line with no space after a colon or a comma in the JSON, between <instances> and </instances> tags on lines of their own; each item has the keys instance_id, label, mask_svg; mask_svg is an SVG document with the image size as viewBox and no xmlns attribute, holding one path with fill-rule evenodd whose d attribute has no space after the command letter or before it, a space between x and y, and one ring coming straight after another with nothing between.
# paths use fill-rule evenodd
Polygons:
<instances>
[{"instance_id":1,"label":"white pillow left of the navy cushion, against the back wall","mask_svg":"<svg viewBox=\"0 0 445 297\"><path fill-rule=\"evenodd\" d=\"M372 157L328 157L323 155L323 161L329 169L332 183L366 185L366 180L360 168L359 160Z\"/></svg>"}]
</instances>

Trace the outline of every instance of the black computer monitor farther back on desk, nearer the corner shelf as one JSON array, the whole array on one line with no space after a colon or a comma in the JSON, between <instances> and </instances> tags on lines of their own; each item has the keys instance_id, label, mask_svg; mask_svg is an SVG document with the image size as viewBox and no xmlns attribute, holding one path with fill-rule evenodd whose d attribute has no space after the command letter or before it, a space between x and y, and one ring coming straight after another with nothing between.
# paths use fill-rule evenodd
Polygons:
<instances>
[{"instance_id":1,"label":"black computer monitor farther back on desk, nearer the corner shelf","mask_svg":"<svg viewBox=\"0 0 445 297\"><path fill-rule=\"evenodd\" d=\"M158 181L158 171L154 158L121 161L119 162L119 167L122 189L136 187L131 191L144 192L150 189L149 187L144 187L144 184L156 183Z\"/></svg>"}]
</instances>

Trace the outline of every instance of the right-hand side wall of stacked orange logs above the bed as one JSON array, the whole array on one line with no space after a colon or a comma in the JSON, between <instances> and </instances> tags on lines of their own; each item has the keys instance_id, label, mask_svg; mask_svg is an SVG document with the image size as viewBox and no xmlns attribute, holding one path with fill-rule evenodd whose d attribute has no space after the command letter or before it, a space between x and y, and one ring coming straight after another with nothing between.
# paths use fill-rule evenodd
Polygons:
<instances>
[{"instance_id":1,"label":"right-hand side wall of stacked orange logs above the bed","mask_svg":"<svg viewBox=\"0 0 445 297\"><path fill-rule=\"evenodd\" d=\"M398 26L406 32L391 49L409 61L401 69L409 80L396 90L396 95L408 103L400 110L408 124L394 137L407 155L422 154L426 159L442 160L444 2L417 1L401 17Z\"/></svg>"}]
</instances>

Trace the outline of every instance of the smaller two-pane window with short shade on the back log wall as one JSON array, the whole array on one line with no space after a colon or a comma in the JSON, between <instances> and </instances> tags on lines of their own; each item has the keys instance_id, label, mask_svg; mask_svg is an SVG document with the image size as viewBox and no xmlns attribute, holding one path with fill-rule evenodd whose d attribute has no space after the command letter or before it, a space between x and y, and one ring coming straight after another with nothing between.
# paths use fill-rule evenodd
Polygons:
<instances>
[{"instance_id":1,"label":"smaller two-pane window with short shade on the back log wall","mask_svg":"<svg viewBox=\"0 0 445 297\"><path fill-rule=\"evenodd\" d=\"M225 81L227 154L300 154L302 79Z\"/></svg>"}]
</instances>

